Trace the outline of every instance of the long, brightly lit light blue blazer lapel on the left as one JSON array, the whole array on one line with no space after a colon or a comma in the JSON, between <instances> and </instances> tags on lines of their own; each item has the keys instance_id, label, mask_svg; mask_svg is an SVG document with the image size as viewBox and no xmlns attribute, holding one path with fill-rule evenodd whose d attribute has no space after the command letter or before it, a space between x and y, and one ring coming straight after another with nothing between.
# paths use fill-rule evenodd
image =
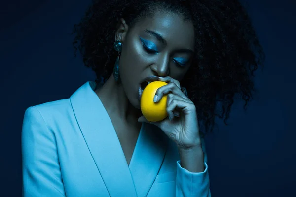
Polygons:
<instances>
[{"instance_id":1,"label":"long, brightly lit light blue blazer lapel on the left","mask_svg":"<svg viewBox=\"0 0 296 197\"><path fill-rule=\"evenodd\" d=\"M136 197L120 142L107 111L93 91L94 85L87 82L71 96L76 120L110 196ZM158 160L153 165L154 171L160 163ZM136 176L136 179L139 177Z\"/></svg>"}]
</instances>

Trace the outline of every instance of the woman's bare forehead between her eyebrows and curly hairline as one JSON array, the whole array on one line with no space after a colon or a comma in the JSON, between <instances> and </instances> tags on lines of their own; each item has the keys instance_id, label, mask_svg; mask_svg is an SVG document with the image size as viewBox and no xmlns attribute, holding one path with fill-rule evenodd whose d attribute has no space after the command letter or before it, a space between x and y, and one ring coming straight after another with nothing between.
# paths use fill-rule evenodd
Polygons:
<instances>
[{"instance_id":1,"label":"woman's bare forehead between her eyebrows and curly hairline","mask_svg":"<svg viewBox=\"0 0 296 197\"><path fill-rule=\"evenodd\" d=\"M190 20L175 13L155 13L141 19L135 26L139 31L152 30L159 33L168 45L194 49L194 27Z\"/></svg>"}]
</instances>

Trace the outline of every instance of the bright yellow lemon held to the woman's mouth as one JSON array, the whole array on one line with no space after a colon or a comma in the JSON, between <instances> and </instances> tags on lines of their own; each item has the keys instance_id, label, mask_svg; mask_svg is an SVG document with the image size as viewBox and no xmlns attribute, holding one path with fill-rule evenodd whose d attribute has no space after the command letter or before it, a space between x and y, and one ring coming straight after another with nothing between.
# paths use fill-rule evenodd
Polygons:
<instances>
[{"instance_id":1,"label":"bright yellow lemon held to the woman's mouth","mask_svg":"<svg viewBox=\"0 0 296 197\"><path fill-rule=\"evenodd\" d=\"M166 112L166 95L158 102L153 102L157 89L164 85L167 85L167 83L163 81L153 81L143 90L141 96L141 111L143 116L150 122L161 121L168 116Z\"/></svg>"}]
</instances>

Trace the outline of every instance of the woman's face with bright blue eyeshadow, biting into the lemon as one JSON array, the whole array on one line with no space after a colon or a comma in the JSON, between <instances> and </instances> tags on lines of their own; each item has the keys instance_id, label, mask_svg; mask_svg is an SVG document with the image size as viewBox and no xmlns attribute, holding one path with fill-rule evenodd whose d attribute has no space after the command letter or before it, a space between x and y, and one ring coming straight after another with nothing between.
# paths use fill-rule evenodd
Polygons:
<instances>
[{"instance_id":1,"label":"woman's face with bright blue eyeshadow, biting into the lemon","mask_svg":"<svg viewBox=\"0 0 296 197\"><path fill-rule=\"evenodd\" d=\"M178 81L184 77L193 55L194 28L182 16L158 13L127 29L123 21L115 36L123 44L119 75L130 103L140 109L143 82L163 76Z\"/></svg>"}]
</instances>

